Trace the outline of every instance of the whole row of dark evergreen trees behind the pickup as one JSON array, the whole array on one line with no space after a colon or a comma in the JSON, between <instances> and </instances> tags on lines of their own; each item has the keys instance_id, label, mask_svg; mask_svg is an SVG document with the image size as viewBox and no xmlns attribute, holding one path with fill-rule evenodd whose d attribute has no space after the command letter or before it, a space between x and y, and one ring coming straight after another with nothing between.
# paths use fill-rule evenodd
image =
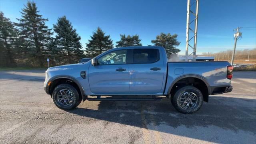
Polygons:
<instances>
[{"instance_id":1,"label":"whole row of dark evergreen trees behind the pickup","mask_svg":"<svg viewBox=\"0 0 256 144\"><path fill-rule=\"evenodd\" d=\"M46 65L50 58L51 66L73 64L80 58L93 58L106 50L114 48L110 35L100 27L90 36L85 50L80 42L81 37L72 23L62 16L50 29L46 26L47 18L39 14L35 2L28 1L21 10L18 22L11 22L0 12L0 66L40 66ZM55 34L55 36L53 36ZM160 33L152 40L154 46L163 46L168 55L180 52L176 48L180 42L177 34ZM142 46L139 36L120 34L115 47Z\"/></svg>"}]
</instances>

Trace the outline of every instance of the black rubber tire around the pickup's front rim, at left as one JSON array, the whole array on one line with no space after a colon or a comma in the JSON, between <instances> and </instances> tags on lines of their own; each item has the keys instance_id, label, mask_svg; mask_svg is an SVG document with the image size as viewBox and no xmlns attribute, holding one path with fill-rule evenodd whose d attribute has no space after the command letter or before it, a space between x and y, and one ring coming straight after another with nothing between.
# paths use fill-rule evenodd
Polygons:
<instances>
[{"instance_id":1,"label":"black rubber tire around the pickup's front rim, at left","mask_svg":"<svg viewBox=\"0 0 256 144\"><path fill-rule=\"evenodd\" d=\"M60 102L58 102L57 94L62 89L70 90L72 92L72 94L74 95L74 101L69 106L65 106L65 105L61 104ZM58 108L65 109L65 110L76 108L82 101L82 98L80 98L79 93L76 90L76 88L74 88L70 84L60 84L60 85L56 86L52 92L52 99L53 99L54 104Z\"/></svg>"}]
</instances>

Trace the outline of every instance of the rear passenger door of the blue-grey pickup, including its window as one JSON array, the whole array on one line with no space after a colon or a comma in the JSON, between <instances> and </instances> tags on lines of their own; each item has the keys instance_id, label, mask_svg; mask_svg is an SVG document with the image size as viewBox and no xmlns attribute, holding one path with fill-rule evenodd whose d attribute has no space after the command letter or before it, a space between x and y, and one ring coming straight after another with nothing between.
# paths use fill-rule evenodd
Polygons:
<instances>
[{"instance_id":1,"label":"rear passenger door of the blue-grey pickup, including its window","mask_svg":"<svg viewBox=\"0 0 256 144\"><path fill-rule=\"evenodd\" d=\"M164 63L159 50L133 49L129 68L130 94L156 94L162 90Z\"/></svg>"}]
</instances>

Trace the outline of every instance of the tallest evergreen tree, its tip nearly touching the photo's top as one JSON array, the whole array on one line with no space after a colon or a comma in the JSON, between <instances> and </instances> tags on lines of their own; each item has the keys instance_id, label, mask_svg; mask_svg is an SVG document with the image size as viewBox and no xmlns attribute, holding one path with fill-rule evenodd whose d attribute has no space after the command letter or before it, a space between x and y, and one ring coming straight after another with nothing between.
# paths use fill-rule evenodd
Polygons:
<instances>
[{"instance_id":1,"label":"tallest evergreen tree, its tip nearly touching the photo's top","mask_svg":"<svg viewBox=\"0 0 256 144\"><path fill-rule=\"evenodd\" d=\"M48 49L48 44L51 39L51 29L48 29L45 22L48 19L42 18L38 14L36 3L27 2L25 8L22 9L22 18L16 23L20 33L19 38L22 42L22 51L27 51L30 60L34 65L44 66L45 55Z\"/></svg>"}]
</instances>

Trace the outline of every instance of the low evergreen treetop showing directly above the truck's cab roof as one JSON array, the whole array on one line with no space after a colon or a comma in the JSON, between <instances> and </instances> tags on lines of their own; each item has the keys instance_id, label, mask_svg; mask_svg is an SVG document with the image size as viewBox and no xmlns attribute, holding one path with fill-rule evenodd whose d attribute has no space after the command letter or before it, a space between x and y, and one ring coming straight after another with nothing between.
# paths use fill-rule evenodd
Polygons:
<instances>
[{"instance_id":1,"label":"low evergreen treetop showing directly above the truck's cab roof","mask_svg":"<svg viewBox=\"0 0 256 144\"><path fill-rule=\"evenodd\" d=\"M116 47L126 47L126 46L142 46L140 44L139 36L136 34L134 36L128 35L127 37L125 34L120 34L121 40L116 42Z\"/></svg>"}]
</instances>

